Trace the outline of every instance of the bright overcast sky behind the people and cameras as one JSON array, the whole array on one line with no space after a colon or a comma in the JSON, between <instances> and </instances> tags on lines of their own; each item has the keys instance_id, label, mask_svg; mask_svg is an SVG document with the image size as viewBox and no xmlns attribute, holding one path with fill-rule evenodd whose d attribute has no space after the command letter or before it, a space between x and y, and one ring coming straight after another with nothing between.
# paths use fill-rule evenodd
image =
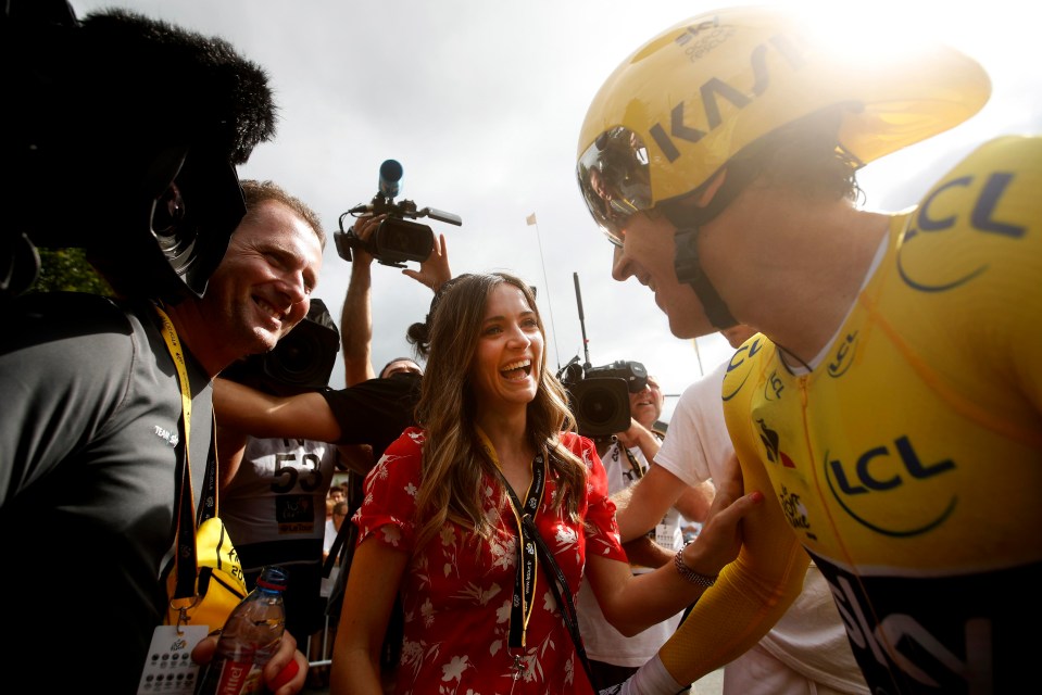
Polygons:
<instances>
[{"instance_id":1,"label":"bright overcast sky behind the people and cameras","mask_svg":"<svg viewBox=\"0 0 1042 695\"><path fill-rule=\"evenodd\" d=\"M651 292L610 275L612 248L580 199L579 127L603 79L662 29L721 2L660 0L72 0L77 14L125 7L219 35L271 75L278 132L240 168L307 202L330 232L316 292L339 323L351 264L331 232L377 191L380 164L404 167L397 200L455 213L444 232L455 273L504 269L538 288L551 367L586 359L573 274L581 288L589 358L642 362L679 394L725 359L719 336L673 338ZM744 4L744 3L742 3ZM792 2L808 5L808 2ZM1038 10L1031 2L845 2L850 21L886 13L893 27L937 33L983 63L993 80L984 110L933 140L866 167L867 206L915 203L931 177L977 142L1042 130ZM1019 5L1019 8L1017 7ZM881 37L886 42L889 37ZM871 60L870 54L866 60ZM162 84L176 96L176 80ZM535 214L536 226L526 224ZM350 223L346 218L346 225ZM416 264L412 264L416 267ZM409 324L430 292L374 265L374 364L410 354ZM331 386L343 386L339 362ZM665 416L675 397L668 397Z\"/></svg>"}]
</instances>

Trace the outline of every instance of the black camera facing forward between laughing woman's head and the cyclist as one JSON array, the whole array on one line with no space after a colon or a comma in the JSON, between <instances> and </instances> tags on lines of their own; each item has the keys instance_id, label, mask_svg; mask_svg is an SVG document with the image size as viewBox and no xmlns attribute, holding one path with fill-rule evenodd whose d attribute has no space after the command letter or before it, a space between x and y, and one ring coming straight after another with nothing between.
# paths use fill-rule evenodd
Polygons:
<instances>
[{"instance_id":1,"label":"black camera facing forward between laughing woman's head and the cyclist","mask_svg":"<svg viewBox=\"0 0 1042 695\"><path fill-rule=\"evenodd\" d=\"M579 365L578 357L557 374L568 393L579 434L593 440L608 439L630 426L629 394L648 383L644 365L618 361L602 367Z\"/></svg>"}]
</instances>

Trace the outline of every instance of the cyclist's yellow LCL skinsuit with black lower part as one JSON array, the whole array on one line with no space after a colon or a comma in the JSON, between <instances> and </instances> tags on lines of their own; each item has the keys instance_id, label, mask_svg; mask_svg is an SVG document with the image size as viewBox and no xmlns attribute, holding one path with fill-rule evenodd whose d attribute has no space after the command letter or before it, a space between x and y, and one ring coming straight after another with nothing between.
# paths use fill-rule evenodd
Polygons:
<instances>
[{"instance_id":1,"label":"cyclist's yellow LCL skinsuit with black lower part","mask_svg":"<svg viewBox=\"0 0 1042 695\"><path fill-rule=\"evenodd\" d=\"M1033 682L1042 139L980 147L895 215L884 256L824 354L794 375L755 336L731 358L723 399L746 490L773 491L770 514L787 522L773 527L794 538L746 539L771 568L743 551L663 662L676 672L681 644L689 656L740 653L766 631L807 561L795 540L827 577L872 692ZM700 609L742 627L721 643L719 624L694 624Z\"/></svg>"}]
</instances>

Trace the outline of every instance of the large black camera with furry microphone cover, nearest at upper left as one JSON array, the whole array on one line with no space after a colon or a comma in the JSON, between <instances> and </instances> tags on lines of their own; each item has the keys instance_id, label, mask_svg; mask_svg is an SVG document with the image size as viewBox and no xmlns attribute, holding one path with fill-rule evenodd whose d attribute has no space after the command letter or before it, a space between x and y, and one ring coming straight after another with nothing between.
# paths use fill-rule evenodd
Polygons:
<instances>
[{"instance_id":1,"label":"large black camera with furry microphone cover, nearest at upper left","mask_svg":"<svg viewBox=\"0 0 1042 695\"><path fill-rule=\"evenodd\" d=\"M263 68L217 37L114 8L79 18L65 0L8 0L0 62L17 104L0 134L0 299L36 283L38 249L63 248L118 294L202 296L246 214L235 167L275 132ZM142 109L156 76L176 93Z\"/></svg>"}]
</instances>

